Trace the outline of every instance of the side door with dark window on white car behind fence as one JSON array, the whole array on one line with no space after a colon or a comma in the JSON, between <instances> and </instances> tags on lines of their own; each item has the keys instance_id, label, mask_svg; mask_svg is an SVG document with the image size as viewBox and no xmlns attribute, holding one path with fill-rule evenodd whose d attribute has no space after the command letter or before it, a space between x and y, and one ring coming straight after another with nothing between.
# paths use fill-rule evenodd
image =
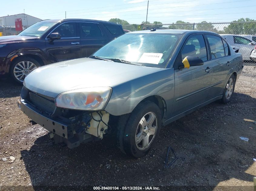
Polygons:
<instances>
[{"instance_id":1,"label":"side door with dark window on white car behind fence","mask_svg":"<svg viewBox=\"0 0 256 191\"><path fill-rule=\"evenodd\" d=\"M250 60L251 51L255 45L252 45L252 40L245 37L233 36L234 46L239 48L239 53L243 55L244 60Z\"/></svg>"}]
</instances>

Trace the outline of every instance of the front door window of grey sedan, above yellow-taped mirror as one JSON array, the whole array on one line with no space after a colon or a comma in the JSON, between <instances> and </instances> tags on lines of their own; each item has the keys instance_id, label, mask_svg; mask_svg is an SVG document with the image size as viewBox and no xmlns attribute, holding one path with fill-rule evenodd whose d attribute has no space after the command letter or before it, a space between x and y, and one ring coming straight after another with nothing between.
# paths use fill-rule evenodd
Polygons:
<instances>
[{"instance_id":1,"label":"front door window of grey sedan, above yellow-taped mirror","mask_svg":"<svg viewBox=\"0 0 256 191\"><path fill-rule=\"evenodd\" d=\"M203 35L194 35L190 37L181 51L182 60L186 56L195 56L203 61L207 60L207 51Z\"/></svg>"}]
</instances>

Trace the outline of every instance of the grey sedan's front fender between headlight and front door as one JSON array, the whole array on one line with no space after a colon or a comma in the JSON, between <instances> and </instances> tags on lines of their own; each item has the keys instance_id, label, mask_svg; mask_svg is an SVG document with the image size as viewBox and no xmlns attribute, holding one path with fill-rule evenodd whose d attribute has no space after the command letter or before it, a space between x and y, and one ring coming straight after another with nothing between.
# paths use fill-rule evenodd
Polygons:
<instances>
[{"instance_id":1,"label":"grey sedan's front fender between headlight and front door","mask_svg":"<svg viewBox=\"0 0 256 191\"><path fill-rule=\"evenodd\" d=\"M131 113L142 100L149 96L162 97L171 113L174 97L174 68L158 72L112 87L113 91L105 111L114 116Z\"/></svg>"}]
</instances>

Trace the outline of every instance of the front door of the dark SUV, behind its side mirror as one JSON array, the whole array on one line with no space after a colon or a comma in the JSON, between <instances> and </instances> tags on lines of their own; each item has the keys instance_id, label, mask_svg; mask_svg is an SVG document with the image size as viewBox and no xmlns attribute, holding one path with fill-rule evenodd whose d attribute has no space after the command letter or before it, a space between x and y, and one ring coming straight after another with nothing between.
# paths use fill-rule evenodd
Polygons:
<instances>
[{"instance_id":1,"label":"front door of the dark SUV, behind its side mirror","mask_svg":"<svg viewBox=\"0 0 256 191\"><path fill-rule=\"evenodd\" d=\"M65 22L56 27L51 33L59 33L61 38L52 42L49 42L48 37L45 39L49 63L81 57L81 44L77 22Z\"/></svg>"}]
</instances>

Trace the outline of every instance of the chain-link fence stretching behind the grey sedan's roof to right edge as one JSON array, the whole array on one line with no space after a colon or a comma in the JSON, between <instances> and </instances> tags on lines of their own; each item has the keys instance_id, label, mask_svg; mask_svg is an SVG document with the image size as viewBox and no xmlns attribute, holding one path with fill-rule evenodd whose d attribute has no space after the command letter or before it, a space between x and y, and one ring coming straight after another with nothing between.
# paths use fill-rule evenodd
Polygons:
<instances>
[{"instance_id":1,"label":"chain-link fence stretching behind the grey sedan's roof to right edge","mask_svg":"<svg viewBox=\"0 0 256 191\"><path fill-rule=\"evenodd\" d=\"M233 49L239 49L245 65L256 65L256 21L231 23L172 23L172 24L131 24L123 29L136 31L151 28L207 30L222 35Z\"/></svg>"}]
</instances>

